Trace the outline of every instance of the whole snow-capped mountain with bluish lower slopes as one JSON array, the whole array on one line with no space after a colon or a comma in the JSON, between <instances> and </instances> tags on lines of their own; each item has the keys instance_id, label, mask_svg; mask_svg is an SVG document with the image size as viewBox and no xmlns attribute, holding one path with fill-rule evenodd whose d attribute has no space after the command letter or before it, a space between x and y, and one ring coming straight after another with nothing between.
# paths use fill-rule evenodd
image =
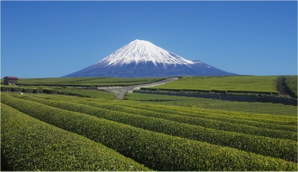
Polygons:
<instances>
[{"instance_id":1,"label":"whole snow-capped mountain with bluish lower slopes","mask_svg":"<svg viewBox=\"0 0 298 172\"><path fill-rule=\"evenodd\" d=\"M170 77L236 75L202 61L184 59L173 52L136 39L87 68L64 77Z\"/></svg>"}]
</instances>

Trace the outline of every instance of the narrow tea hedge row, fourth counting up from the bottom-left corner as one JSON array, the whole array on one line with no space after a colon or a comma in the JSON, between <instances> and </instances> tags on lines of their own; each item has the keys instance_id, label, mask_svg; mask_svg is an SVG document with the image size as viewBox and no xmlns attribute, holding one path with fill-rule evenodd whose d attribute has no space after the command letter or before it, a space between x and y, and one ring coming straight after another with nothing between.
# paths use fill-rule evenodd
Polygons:
<instances>
[{"instance_id":1,"label":"narrow tea hedge row, fourth counting up from the bottom-left corner","mask_svg":"<svg viewBox=\"0 0 298 172\"><path fill-rule=\"evenodd\" d=\"M121 120L121 116L128 117L129 114L122 114L122 113L112 113L106 109L98 109L98 108L91 108L89 106L76 106L76 104L71 104L70 102L46 102L46 104L50 104L51 106L58 106L60 108L67 108L69 111L77 111L80 113L89 113L90 111L94 111L92 114L99 114L100 117L107 118L108 120ZM73 106L72 106L73 105ZM173 112L175 113L175 112ZM107 115L108 114L108 115ZM114 114L114 116L112 116ZM182 122L186 124L204 126L207 128L214 128L221 131L234 131L238 133L245 133L250 135L261 135L266 137L274 137L280 139L289 139L289 140L297 140L297 132L290 132L290 131L278 131L272 130L269 128L258 128L255 126L248 126L245 124L235 124L230 122L222 122L221 120L209 120L206 118L199 118L199 117L188 117L182 115L172 115L170 113L167 114L159 114L159 113L137 113L138 115L145 115L149 117L157 117L164 120L171 120L175 122ZM103 116L105 115L105 116ZM134 116L132 116L132 120Z\"/></svg>"}]
</instances>

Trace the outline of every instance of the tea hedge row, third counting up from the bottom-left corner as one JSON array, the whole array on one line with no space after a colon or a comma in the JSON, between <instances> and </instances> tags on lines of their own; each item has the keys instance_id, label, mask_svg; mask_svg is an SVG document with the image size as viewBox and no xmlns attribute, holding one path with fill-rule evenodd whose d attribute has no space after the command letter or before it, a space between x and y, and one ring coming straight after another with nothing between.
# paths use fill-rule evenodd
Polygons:
<instances>
[{"instance_id":1,"label":"tea hedge row, third counting up from the bottom-left corner","mask_svg":"<svg viewBox=\"0 0 298 172\"><path fill-rule=\"evenodd\" d=\"M234 147L243 151L279 157L283 160L297 162L297 142L292 140L280 140L270 137L218 131L211 128L204 128L202 126L162 120L156 117L144 117L141 115L133 115L119 111L110 111L104 108L96 108L94 106L76 104L73 102L38 99L35 97L23 98L47 104L49 106L63 108L69 111L85 113L96 117L102 117L107 120L129 124L131 126L136 126L150 131L185 137L191 140L209 142L220 146ZM137 110L135 110L135 112L139 114L142 113L142 111Z\"/></svg>"}]
</instances>

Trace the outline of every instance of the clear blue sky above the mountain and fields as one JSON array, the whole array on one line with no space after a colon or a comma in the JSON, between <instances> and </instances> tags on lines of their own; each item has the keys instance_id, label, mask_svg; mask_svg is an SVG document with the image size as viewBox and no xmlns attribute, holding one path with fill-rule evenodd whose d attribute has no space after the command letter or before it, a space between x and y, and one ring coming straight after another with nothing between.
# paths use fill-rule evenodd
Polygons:
<instances>
[{"instance_id":1,"label":"clear blue sky above the mountain and fields","mask_svg":"<svg viewBox=\"0 0 298 172\"><path fill-rule=\"evenodd\" d=\"M297 1L1 1L1 78L62 77L143 39L241 75L297 75Z\"/></svg>"}]
</instances>

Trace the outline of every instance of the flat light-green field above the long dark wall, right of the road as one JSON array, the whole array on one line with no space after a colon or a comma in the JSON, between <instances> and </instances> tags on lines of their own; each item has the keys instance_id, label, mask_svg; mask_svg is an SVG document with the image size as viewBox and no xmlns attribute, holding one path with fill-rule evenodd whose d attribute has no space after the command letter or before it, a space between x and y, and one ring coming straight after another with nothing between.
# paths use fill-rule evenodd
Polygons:
<instances>
[{"instance_id":1,"label":"flat light-green field above the long dark wall, right of the road","mask_svg":"<svg viewBox=\"0 0 298 172\"><path fill-rule=\"evenodd\" d=\"M278 93L276 76L182 77L152 88L189 90L240 90Z\"/></svg>"}]
</instances>

